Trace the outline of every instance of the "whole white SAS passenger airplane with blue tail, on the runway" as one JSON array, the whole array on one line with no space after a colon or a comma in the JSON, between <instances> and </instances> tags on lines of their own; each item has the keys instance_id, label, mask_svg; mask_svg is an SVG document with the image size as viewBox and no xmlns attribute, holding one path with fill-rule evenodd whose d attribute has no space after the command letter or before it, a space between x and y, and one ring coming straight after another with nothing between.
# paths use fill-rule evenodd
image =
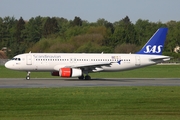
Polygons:
<instances>
[{"instance_id":1,"label":"whole white SAS passenger airplane with blue tail, on the runway","mask_svg":"<svg viewBox=\"0 0 180 120\"><path fill-rule=\"evenodd\" d=\"M5 63L12 70L26 71L26 79L31 72L51 72L52 76L91 79L91 72L124 71L155 65L170 60L162 55L168 28L159 28L149 41L135 54L109 53L24 53ZM84 74L86 76L84 76Z\"/></svg>"}]
</instances>

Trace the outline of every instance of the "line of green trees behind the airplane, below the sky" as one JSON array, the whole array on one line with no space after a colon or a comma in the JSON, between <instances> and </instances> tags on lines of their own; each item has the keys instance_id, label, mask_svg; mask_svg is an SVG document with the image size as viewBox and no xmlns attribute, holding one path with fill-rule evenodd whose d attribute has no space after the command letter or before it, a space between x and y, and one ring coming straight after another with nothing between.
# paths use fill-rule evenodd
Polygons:
<instances>
[{"instance_id":1,"label":"line of green trees behind the airplane, below the sky","mask_svg":"<svg viewBox=\"0 0 180 120\"><path fill-rule=\"evenodd\" d=\"M7 47L8 57L25 52L55 53L134 53L160 27L168 27L163 54L179 58L174 48L180 45L180 21L167 23L125 16L114 23L105 19L88 22L80 17L0 17L0 48Z\"/></svg>"}]
</instances>

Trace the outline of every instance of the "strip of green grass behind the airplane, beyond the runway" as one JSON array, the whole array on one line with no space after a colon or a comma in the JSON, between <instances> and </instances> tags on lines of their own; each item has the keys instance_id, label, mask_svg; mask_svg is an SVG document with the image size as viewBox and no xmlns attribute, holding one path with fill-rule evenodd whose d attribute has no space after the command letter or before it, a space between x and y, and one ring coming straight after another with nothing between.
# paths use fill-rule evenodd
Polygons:
<instances>
[{"instance_id":1,"label":"strip of green grass behind the airplane, beyond the runway","mask_svg":"<svg viewBox=\"0 0 180 120\"><path fill-rule=\"evenodd\" d=\"M25 78L26 72L0 66L0 78ZM123 72L90 73L92 78L180 78L180 65L154 65ZM50 72L32 72L31 78L58 78Z\"/></svg>"}]
</instances>

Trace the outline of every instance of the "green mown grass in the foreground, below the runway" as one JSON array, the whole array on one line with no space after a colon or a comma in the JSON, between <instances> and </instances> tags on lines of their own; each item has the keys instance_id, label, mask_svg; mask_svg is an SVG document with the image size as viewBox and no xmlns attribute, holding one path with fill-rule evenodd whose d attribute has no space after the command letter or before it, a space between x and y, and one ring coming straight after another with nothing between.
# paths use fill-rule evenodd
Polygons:
<instances>
[{"instance_id":1,"label":"green mown grass in the foreground, below the runway","mask_svg":"<svg viewBox=\"0 0 180 120\"><path fill-rule=\"evenodd\" d=\"M180 87L0 89L1 120L178 120Z\"/></svg>"}]
</instances>

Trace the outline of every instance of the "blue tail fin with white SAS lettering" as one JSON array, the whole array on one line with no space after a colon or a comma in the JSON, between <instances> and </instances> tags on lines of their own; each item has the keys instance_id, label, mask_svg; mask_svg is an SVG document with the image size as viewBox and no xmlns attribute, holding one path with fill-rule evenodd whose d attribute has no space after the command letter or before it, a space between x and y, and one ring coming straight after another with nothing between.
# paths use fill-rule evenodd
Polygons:
<instances>
[{"instance_id":1,"label":"blue tail fin with white SAS lettering","mask_svg":"<svg viewBox=\"0 0 180 120\"><path fill-rule=\"evenodd\" d=\"M159 28L137 54L161 55L168 28Z\"/></svg>"}]
</instances>

